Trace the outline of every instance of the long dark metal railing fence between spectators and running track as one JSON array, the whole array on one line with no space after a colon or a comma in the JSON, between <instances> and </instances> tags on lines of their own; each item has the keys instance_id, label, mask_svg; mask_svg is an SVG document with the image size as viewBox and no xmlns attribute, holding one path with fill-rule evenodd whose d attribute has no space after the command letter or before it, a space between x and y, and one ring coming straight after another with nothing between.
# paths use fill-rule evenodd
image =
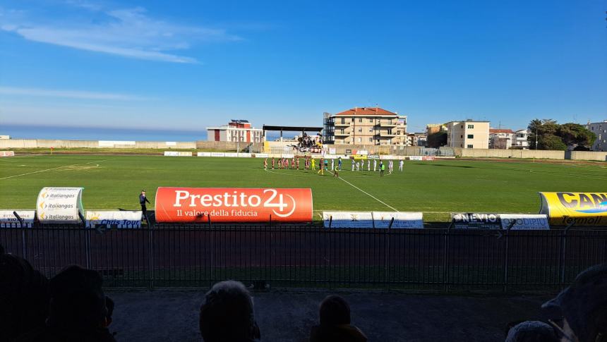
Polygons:
<instances>
[{"instance_id":1,"label":"long dark metal railing fence between spectators and running track","mask_svg":"<svg viewBox=\"0 0 607 342\"><path fill-rule=\"evenodd\" d=\"M95 231L0 230L6 252L53 276L97 269L105 286L533 291L559 288L607 262L607 231L323 229L315 226L162 226Z\"/></svg>"}]
</instances>

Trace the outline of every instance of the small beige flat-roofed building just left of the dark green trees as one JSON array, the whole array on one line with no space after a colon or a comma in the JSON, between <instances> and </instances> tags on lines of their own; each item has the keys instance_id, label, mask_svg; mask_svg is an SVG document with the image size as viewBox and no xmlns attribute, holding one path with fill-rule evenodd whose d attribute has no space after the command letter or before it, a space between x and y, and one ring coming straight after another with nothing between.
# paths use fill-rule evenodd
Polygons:
<instances>
[{"instance_id":1,"label":"small beige flat-roofed building just left of the dark green trees","mask_svg":"<svg viewBox=\"0 0 607 342\"><path fill-rule=\"evenodd\" d=\"M489 121L451 121L447 127L447 146L489 148Z\"/></svg>"}]
</instances>

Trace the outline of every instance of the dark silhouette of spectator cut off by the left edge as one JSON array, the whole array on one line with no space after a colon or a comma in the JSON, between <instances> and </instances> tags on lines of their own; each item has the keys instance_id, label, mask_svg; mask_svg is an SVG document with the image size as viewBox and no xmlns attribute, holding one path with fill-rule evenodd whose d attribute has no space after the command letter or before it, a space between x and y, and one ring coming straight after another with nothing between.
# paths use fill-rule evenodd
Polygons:
<instances>
[{"instance_id":1,"label":"dark silhouette of spectator cut off by the left edge","mask_svg":"<svg viewBox=\"0 0 607 342\"><path fill-rule=\"evenodd\" d=\"M49 281L20 257L0 246L0 341L44 326L49 310Z\"/></svg>"}]
</instances>

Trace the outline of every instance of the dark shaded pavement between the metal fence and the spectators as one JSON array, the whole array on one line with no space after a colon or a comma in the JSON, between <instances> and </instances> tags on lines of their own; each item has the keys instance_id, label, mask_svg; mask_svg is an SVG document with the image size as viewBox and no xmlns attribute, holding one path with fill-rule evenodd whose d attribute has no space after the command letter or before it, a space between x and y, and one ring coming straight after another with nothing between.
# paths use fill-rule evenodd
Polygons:
<instances>
[{"instance_id":1,"label":"dark shaded pavement between the metal fence and the spectators","mask_svg":"<svg viewBox=\"0 0 607 342\"><path fill-rule=\"evenodd\" d=\"M206 289L108 291L118 341L202 341L198 310ZM262 341L308 341L330 292L252 293ZM533 297L339 293L369 341L504 341L508 322L541 318L550 294Z\"/></svg>"}]
</instances>

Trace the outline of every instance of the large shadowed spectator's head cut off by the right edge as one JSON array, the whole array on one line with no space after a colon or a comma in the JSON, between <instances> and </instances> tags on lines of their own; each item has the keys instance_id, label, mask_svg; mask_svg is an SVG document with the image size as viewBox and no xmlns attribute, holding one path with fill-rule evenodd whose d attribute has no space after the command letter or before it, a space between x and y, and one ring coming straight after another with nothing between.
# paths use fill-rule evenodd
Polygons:
<instances>
[{"instance_id":1,"label":"large shadowed spectator's head cut off by the right edge","mask_svg":"<svg viewBox=\"0 0 607 342\"><path fill-rule=\"evenodd\" d=\"M582 271L542 308L553 314L561 341L607 342L607 264Z\"/></svg>"}]
</instances>

